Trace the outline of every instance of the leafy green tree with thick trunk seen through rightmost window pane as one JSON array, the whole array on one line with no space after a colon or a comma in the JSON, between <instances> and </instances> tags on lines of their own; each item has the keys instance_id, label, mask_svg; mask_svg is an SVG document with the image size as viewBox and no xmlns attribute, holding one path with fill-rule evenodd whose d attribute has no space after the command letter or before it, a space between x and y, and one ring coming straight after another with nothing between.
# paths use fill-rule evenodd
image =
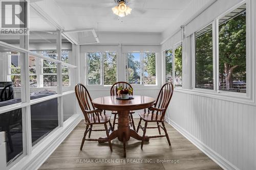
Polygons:
<instances>
[{"instance_id":1,"label":"leafy green tree with thick trunk seen through rightmost window pane","mask_svg":"<svg viewBox=\"0 0 256 170\"><path fill-rule=\"evenodd\" d=\"M233 79L245 80L246 12L219 26L219 63L220 72L225 76L227 90L233 88ZM234 74L239 73L240 76L234 77Z\"/></svg>"}]
</instances>

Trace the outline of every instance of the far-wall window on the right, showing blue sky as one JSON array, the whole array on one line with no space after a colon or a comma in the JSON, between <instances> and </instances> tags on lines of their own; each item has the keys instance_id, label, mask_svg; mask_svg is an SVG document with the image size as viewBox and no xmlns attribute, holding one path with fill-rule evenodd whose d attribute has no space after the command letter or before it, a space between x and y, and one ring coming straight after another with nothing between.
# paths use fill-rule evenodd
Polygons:
<instances>
[{"instance_id":1,"label":"far-wall window on the right, showing blue sky","mask_svg":"<svg viewBox=\"0 0 256 170\"><path fill-rule=\"evenodd\" d=\"M127 53L127 81L156 85L156 53Z\"/></svg>"}]
</instances>

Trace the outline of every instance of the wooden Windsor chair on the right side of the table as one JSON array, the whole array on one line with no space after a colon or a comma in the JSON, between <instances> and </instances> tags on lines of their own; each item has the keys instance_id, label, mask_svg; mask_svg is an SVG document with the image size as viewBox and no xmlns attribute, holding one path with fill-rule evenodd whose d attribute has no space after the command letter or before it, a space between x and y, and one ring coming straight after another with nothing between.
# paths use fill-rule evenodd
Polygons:
<instances>
[{"instance_id":1,"label":"wooden Windsor chair on the right side of the table","mask_svg":"<svg viewBox=\"0 0 256 170\"><path fill-rule=\"evenodd\" d=\"M145 140L145 134L146 134L146 129L149 128L158 128L159 135L158 136L147 136L147 138L157 138L157 137L166 137L167 141L170 145L170 139L167 133L167 130L164 125L164 115L167 110L167 107L170 103L170 99L172 99L173 96L173 91L174 91L174 86L172 83L165 83L156 100L156 103L154 103L153 107L148 108L148 111L144 111L144 113L140 113L140 121L139 125L137 127L137 133L139 129L143 131L143 136L142 136L142 141L141 141L141 149L143 148L144 140ZM145 109L146 110L146 109ZM144 120L145 126L142 127L141 120ZM147 127L148 122L155 122L157 123L157 127ZM159 124L161 123L162 126ZM165 135L161 135L160 128L164 130Z\"/></svg>"}]
</instances>

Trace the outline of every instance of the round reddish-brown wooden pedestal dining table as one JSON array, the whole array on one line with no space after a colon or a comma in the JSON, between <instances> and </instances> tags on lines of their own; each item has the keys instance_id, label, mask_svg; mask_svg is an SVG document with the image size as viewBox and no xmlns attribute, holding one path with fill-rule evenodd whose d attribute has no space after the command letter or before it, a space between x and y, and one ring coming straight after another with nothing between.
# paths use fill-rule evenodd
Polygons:
<instances>
[{"instance_id":1,"label":"round reddish-brown wooden pedestal dining table","mask_svg":"<svg viewBox=\"0 0 256 170\"><path fill-rule=\"evenodd\" d=\"M142 136L140 136L133 129L130 129L130 111L152 107L155 99L144 95L133 95L131 96L134 98L132 100L117 100L117 97L118 96L104 96L94 99L92 103L96 108L101 110L117 111L118 128L110 134L109 138L111 140L118 138L119 141L123 142L123 156L126 157L126 141L128 141L130 137L137 140L142 140ZM148 140L149 138L145 137L145 141ZM107 142L108 139L105 137L100 137L98 141L99 143Z\"/></svg>"}]
</instances>

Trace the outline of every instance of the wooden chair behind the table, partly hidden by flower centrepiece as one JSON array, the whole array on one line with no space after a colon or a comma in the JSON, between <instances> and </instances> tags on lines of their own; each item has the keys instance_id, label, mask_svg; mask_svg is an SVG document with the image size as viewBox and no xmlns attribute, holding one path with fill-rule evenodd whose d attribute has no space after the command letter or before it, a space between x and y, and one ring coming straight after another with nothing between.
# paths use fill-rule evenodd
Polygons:
<instances>
[{"instance_id":1,"label":"wooden chair behind the table, partly hidden by flower centrepiece","mask_svg":"<svg viewBox=\"0 0 256 170\"><path fill-rule=\"evenodd\" d=\"M127 83L127 82L116 82L115 84L113 84L113 86L110 89L110 95L118 95L117 91L119 87L123 87L123 88L128 88L128 89L132 89L132 85ZM133 93L132 93L133 95ZM114 114L114 121L113 121L113 130L115 129L115 125L116 123L116 118L117 118L117 111L111 111L112 114ZM129 115L129 119L130 119L130 125L133 127L133 130L136 131L135 125L134 125L134 120L133 120L133 113L135 113L134 111L130 111L130 115Z\"/></svg>"}]
</instances>

